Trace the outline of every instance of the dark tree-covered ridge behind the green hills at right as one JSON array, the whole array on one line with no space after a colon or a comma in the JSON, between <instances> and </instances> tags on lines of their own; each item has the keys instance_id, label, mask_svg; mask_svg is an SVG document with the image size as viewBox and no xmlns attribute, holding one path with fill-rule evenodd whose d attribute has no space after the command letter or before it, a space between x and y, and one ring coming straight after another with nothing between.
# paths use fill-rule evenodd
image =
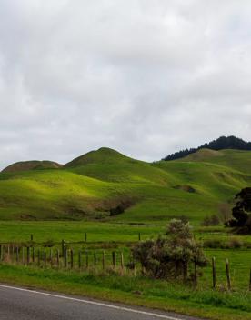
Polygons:
<instances>
[{"instance_id":1,"label":"dark tree-covered ridge behind the green hills at right","mask_svg":"<svg viewBox=\"0 0 251 320\"><path fill-rule=\"evenodd\" d=\"M211 150L224 150L224 149L235 149L235 150L250 150L251 142L246 142L243 139L237 138L234 135L220 136L216 140L213 140L205 145L200 145L197 148L190 148L181 151L177 151L174 154L166 155L162 160L171 161L176 159L184 158L186 155L195 154L200 149L211 149Z\"/></svg>"}]
</instances>

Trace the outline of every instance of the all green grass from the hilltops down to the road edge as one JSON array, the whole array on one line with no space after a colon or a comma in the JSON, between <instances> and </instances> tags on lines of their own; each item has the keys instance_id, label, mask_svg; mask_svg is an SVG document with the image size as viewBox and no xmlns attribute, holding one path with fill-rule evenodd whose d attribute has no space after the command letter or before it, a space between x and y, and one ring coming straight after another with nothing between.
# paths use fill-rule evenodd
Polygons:
<instances>
[{"instance_id":1,"label":"all green grass from the hilltops down to the road edge","mask_svg":"<svg viewBox=\"0 0 251 320\"><path fill-rule=\"evenodd\" d=\"M211 261L216 257L217 289L213 291L209 264L193 286L171 284L117 272L56 271L49 268L0 265L0 281L31 285L71 294L128 304L147 305L212 319L251 319L248 292L251 235L232 235L218 226L202 226L206 215L233 205L234 195L251 182L248 151L202 149L186 158L149 164L101 148L65 166L51 162L15 164L0 173L0 243L25 245L34 237L35 248L60 248L62 239L77 252L94 252L107 264L112 251L125 255L130 246L165 232L172 218L186 216ZM27 170L28 168L28 170ZM125 205L120 215L110 209ZM87 242L85 242L85 233ZM210 241L214 248L209 247ZM234 247L232 243L241 244ZM233 290L226 290L225 259L230 262ZM100 276L102 275L102 276ZM136 295L135 292L140 294Z\"/></svg>"}]
</instances>

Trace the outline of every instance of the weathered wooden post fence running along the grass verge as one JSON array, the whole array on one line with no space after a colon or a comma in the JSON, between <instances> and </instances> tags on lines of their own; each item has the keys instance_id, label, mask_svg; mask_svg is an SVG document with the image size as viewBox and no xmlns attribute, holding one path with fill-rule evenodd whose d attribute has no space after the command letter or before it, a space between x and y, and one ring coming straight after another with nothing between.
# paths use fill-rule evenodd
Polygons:
<instances>
[{"instance_id":1,"label":"weathered wooden post fence running along the grass verge","mask_svg":"<svg viewBox=\"0 0 251 320\"><path fill-rule=\"evenodd\" d=\"M57 247L40 248L35 246L23 246L14 244L0 244L0 263L14 265L34 265L43 268L68 269L79 271L111 271L119 272L121 275L136 276L136 262L132 257L128 257L127 264L125 263L125 255L121 250L113 250L111 252L96 252L95 250L86 250L85 248L74 251L68 248L65 240L62 240L62 250ZM91 255L92 254L92 255ZM216 258L212 258L212 287L217 287L216 274ZM142 267L142 270L144 268ZM225 260L226 269L226 287L232 289L232 281L230 276L229 260ZM144 272L142 271L144 274ZM194 285L198 285L198 271L196 262L194 263ZM248 290L251 291L251 268L247 281Z\"/></svg>"}]
</instances>

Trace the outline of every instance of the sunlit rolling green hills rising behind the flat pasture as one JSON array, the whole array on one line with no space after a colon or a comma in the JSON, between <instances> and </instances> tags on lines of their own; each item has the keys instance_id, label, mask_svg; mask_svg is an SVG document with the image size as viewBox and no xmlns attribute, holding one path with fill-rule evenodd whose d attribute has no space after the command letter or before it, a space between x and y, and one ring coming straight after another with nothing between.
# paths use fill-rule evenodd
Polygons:
<instances>
[{"instance_id":1,"label":"sunlit rolling green hills rising behind the flat pasture","mask_svg":"<svg viewBox=\"0 0 251 320\"><path fill-rule=\"evenodd\" d=\"M149 164L101 148L64 166L21 164L0 174L0 219L162 223L187 215L199 224L251 182L250 151L200 149L176 161ZM126 211L110 217L117 205Z\"/></svg>"}]
</instances>

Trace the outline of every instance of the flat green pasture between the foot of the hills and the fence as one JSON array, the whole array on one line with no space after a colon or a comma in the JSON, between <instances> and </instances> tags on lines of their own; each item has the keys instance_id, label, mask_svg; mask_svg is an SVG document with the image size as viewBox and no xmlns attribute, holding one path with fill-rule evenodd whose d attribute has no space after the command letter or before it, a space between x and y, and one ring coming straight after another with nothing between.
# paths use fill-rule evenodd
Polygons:
<instances>
[{"instance_id":1,"label":"flat green pasture between the foot of the hills and the fence","mask_svg":"<svg viewBox=\"0 0 251 320\"><path fill-rule=\"evenodd\" d=\"M94 254L97 259L97 269L102 271L102 254L105 250L105 263L112 267L112 252L116 252L116 265L120 266L120 253L123 252L125 265L131 261L130 248L139 240L156 238L163 235L165 225L126 225L85 222L0 222L0 243L16 246L30 245L33 235L35 255L40 249L49 256L50 247L55 255L55 250L61 252L61 241L64 239L67 248L73 249L75 267L78 264L78 252L82 252L82 269L85 269L85 253L88 252L89 267L94 267ZM85 241L85 233L87 238ZM233 288L245 290L248 288L251 267L251 236L230 235L223 227L195 228L196 239L202 243L208 239L216 241L216 247L206 247L205 252L209 264L203 269L200 284L208 289L212 286L211 259L216 257L217 284L226 286L226 258L230 262L230 273ZM231 245L232 242L234 245ZM236 245L237 243L237 245ZM213 242L213 245L215 243ZM227 245L226 244L230 244ZM15 250L15 249L14 249ZM20 258L21 259L21 258ZM69 258L68 258L69 259ZM15 260L15 257L14 257ZM68 261L69 264L69 261ZM61 263L63 267L63 262ZM137 273L140 273L138 266Z\"/></svg>"}]
</instances>

